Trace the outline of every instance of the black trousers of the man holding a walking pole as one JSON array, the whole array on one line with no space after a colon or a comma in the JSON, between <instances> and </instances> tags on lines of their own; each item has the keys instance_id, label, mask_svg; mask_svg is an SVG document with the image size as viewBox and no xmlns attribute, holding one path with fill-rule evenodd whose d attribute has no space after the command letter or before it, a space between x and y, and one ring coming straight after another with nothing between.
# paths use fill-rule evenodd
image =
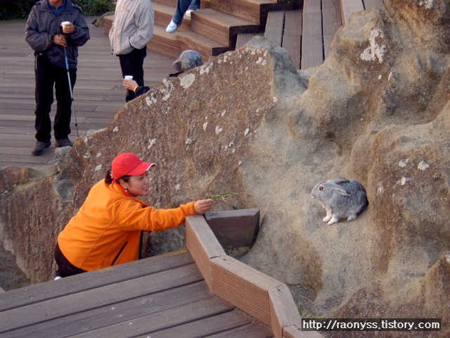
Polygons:
<instances>
[{"instance_id":1,"label":"black trousers of the man holding a walking pole","mask_svg":"<svg viewBox=\"0 0 450 338\"><path fill-rule=\"evenodd\" d=\"M56 115L53 123L55 139L67 139L70 134L70 118L72 115L72 98L70 96L68 71L50 63L45 54L37 54L34 64L36 78L36 139L49 142L51 139L50 111L53 104L53 87L56 96ZM77 80L77 70L70 69L72 89Z\"/></svg>"}]
</instances>

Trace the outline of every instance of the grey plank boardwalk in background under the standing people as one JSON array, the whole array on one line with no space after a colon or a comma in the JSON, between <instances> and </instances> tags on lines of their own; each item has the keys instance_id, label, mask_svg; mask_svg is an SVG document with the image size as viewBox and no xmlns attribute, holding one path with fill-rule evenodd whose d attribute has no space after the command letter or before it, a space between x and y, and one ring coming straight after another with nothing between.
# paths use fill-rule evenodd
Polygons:
<instances>
[{"instance_id":1,"label":"grey plank boardwalk in background under the standing people","mask_svg":"<svg viewBox=\"0 0 450 338\"><path fill-rule=\"evenodd\" d=\"M87 23L94 18L86 18ZM119 59L110 53L103 27L89 25L91 39L79 48L74 89L79 133L107 127L125 104ZM146 85L153 87L174 73L174 58L148 50ZM53 120L56 102L53 104ZM25 42L25 20L0 21L0 168L6 165L53 165L54 146L32 156L34 139L34 55ZM72 134L77 132L72 115ZM54 139L52 139L52 142Z\"/></svg>"}]
</instances>

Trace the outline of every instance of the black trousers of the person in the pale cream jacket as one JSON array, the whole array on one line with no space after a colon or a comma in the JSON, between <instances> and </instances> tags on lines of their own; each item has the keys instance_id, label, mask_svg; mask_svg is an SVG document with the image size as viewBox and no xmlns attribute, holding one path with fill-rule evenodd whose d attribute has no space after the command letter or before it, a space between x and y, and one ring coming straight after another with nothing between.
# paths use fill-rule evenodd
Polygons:
<instances>
[{"instance_id":1,"label":"black trousers of the person in the pale cream jacket","mask_svg":"<svg viewBox=\"0 0 450 338\"><path fill-rule=\"evenodd\" d=\"M129 54L119 55L120 68L122 68L122 77L133 75L133 80L139 86L143 86L143 59L147 56L147 46L143 49L133 49ZM127 89L125 101L134 99L134 92Z\"/></svg>"}]
</instances>

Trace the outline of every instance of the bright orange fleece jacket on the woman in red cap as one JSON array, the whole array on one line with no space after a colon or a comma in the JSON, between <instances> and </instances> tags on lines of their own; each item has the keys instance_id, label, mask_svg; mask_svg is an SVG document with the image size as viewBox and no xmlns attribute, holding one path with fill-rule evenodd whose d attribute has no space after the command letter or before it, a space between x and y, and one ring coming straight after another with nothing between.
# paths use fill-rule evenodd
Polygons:
<instances>
[{"instance_id":1,"label":"bright orange fleece jacket on the woman in red cap","mask_svg":"<svg viewBox=\"0 0 450 338\"><path fill-rule=\"evenodd\" d=\"M120 184L101 180L58 236L65 258L86 271L136 261L141 230L160 231L183 224L195 215L194 203L155 210L131 197Z\"/></svg>"}]
</instances>

